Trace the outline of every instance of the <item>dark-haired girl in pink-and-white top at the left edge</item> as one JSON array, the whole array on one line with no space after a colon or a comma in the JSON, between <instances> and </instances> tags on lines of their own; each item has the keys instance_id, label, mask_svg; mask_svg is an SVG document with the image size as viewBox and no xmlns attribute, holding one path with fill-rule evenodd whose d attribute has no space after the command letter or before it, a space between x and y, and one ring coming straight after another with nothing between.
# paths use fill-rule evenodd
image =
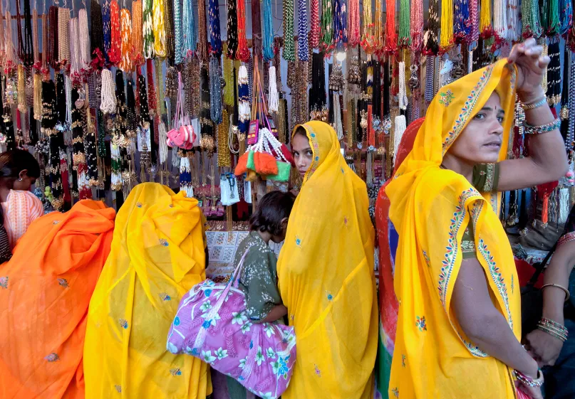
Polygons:
<instances>
[{"instance_id":1,"label":"dark-haired girl in pink-and-white top at the left edge","mask_svg":"<svg viewBox=\"0 0 575 399\"><path fill-rule=\"evenodd\" d=\"M11 249L30 223L43 215L42 202L30 191L39 176L38 161L28 151L15 149L0 154L0 202Z\"/></svg>"}]
</instances>

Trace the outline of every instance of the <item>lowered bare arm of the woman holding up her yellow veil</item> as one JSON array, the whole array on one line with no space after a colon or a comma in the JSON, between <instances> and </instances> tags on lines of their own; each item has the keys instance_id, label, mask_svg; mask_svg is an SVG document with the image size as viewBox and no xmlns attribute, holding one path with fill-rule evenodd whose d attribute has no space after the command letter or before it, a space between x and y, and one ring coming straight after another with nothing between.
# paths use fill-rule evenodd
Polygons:
<instances>
[{"instance_id":1,"label":"lowered bare arm of the woman holding up her yellow veil","mask_svg":"<svg viewBox=\"0 0 575 399\"><path fill-rule=\"evenodd\" d=\"M452 310L465 335L489 356L530 378L537 378L537 362L515 338L504 316L489 297L487 277L477 258L462 260L452 296ZM539 388L522 387L534 399Z\"/></svg>"}]
</instances>

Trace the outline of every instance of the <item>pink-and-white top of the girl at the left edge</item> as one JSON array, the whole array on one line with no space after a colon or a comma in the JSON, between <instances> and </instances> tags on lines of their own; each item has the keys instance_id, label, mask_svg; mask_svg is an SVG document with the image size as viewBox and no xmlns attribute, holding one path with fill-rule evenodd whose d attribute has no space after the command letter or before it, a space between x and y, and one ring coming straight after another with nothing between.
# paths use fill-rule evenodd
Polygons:
<instances>
[{"instance_id":1,"label":"pink-and-white top of the girl at the left edge","mask_svg":"<svg viewBox=\"0 0 575 399\"><path fill-rule=\"evenodd\" d=\"M26 233L29 225L44 214L42 201L31 191L10 190L6 202L2 203L4 228L8 233L10 248L14 250L18 240Z\"/></svg>"}]
</instances>

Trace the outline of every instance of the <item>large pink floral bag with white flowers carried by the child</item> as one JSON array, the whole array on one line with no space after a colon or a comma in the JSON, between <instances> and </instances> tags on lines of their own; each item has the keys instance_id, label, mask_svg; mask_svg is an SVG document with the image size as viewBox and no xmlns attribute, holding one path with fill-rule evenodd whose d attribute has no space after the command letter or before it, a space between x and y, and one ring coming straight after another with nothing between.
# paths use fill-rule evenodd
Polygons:
<instances>
[{"instance_id":1,"label":"large pink floral bag with white flowers carried by the child","mask_svg":"<svg viewBox=\"0 0 575 399\"><path fill-rule=\"evenodd\" d=\"M294 327L249 321L245 294L238 288L248 251L227 284L205 280L182 298L167 350L200 358L255 395L276 399L289 385L296 336Z\"/></svg>"}]
</instances>

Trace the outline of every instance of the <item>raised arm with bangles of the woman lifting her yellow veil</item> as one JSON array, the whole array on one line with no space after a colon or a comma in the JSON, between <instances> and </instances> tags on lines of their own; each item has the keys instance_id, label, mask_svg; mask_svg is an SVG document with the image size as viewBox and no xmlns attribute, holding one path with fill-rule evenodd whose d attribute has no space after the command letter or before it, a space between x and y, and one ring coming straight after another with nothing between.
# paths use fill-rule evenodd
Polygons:
<instances>
[{"instance_id":1,"label":"raised arm with bangles of the woman lifting her yellow veil","mask_svg":"<svg viewBox=\"0 0 575 399\"><path fill-rule=\"evenodd\" d=\"M517 65L517 95L524 105L525 122L531 126L551 124L555 117L546 102L541 82L549 57L533 38L513 47L509 63ZM517 190L559 180L567 171L565 145L559 128L542 134L525 134L529 156L499 164L499 191Z\"/></svg>"}]
</instances>

